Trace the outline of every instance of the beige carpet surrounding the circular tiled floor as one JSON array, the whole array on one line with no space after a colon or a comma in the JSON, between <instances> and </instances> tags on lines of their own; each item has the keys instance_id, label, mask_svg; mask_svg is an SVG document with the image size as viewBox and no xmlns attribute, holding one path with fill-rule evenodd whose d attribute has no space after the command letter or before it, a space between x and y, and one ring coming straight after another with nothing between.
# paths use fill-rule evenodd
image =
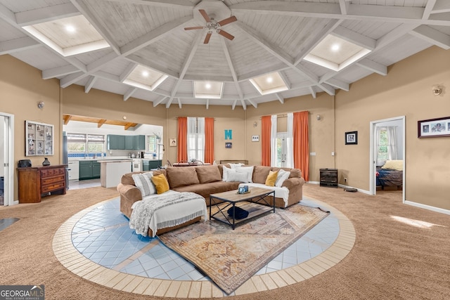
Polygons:
<instances>
[{"instance_id":1,"label":"beige carpet surrounding the circular tiled floor","mask_svg":"<svg viewBox=\"0 0 450 300\"><path fill-rule=\"evenodd\" d=\"M160 299L119 292L79 278L53 254L53 235L64 221L117 195L114 188L69 190L67 195L45 197L39 204L1 207L0 219L21 218L0 231L1 284L43 284L46 299ZM304 282L229 298L448 299L450 216L401 204L401 193L397 192L373 197L306 184L304 195L329 203L353 222L356 243L352 251L338 265ZM391 216L439 226L418 228Z\"/></svg>"}]
</instances>

